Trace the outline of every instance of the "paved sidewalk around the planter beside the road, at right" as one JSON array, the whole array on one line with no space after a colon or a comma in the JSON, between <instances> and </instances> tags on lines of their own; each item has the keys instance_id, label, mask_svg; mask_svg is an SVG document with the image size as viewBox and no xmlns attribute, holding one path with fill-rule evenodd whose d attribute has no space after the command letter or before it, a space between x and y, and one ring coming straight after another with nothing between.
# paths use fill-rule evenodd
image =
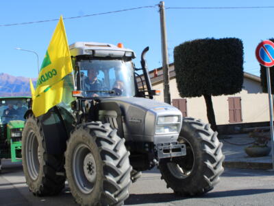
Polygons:
<instances>
[{"instance_id":1,"label":"paved sidewalk around the planter beside the road, at right","mask_svg":"<svg viewBox=\"0 0 274 206\"><path fill-rule=\"evenodd\" d=\"M247 144L253 141L248 137L248 134L240 135L221 135L220 141L223 142L223 154L225 155L225 161L223 163L226 168L247 168L247 169L272 169L272 154L266 157L249 157L245 153L245 147L236 146L234 144ZM232 143L229 144L228 142ZM271 142L269 142L271 146Z\"/></svg>"}]
</instances>

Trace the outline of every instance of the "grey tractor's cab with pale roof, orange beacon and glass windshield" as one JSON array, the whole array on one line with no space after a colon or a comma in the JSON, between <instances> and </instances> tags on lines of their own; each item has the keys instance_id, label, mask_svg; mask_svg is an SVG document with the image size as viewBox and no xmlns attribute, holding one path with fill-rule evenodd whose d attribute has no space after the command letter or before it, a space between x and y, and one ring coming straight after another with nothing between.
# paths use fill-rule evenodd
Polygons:
<instances>
[{"instance_id":1,"label":"grey tractor's cab with pale roof, orange beacon and glass windshield","mask_svg":"<svg viewBox=\"0 0 274 206\"><path fill-rule=\"evenodd\" d=\"M75 96L83 98L136 97L140 95L132 59L123 45L77 42L70 45L75 66Z\"/></svg>"}]
</instances>

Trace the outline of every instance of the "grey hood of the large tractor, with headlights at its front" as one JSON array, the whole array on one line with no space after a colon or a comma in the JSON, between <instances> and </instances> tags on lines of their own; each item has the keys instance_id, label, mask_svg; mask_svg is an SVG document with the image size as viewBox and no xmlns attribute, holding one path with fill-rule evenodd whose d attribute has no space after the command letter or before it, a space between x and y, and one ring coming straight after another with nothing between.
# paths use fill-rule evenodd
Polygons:
<instances>
[{"instance_id":1,"label":"grey hood of the large tractor, with headlights at its front","mask_svg":"<svg viewBox=\"0 0 274 206\"><path fill-rule=\"evenodd\" d=\"M127 97L108 98L101 100L101 102L115 102L119 105L123 116L123 132L126 139L152 141L154 143L165 142L166 139L177 141L179 130L182 127L182 113L174 106L145 98ZM174 125L170 123L158 125L158 118L166 116L176 116L178 122ZM173 132L169 126L173 128ZM175 127L177 128L176 131L174 130Z\"/></svg>"}]
</instances>

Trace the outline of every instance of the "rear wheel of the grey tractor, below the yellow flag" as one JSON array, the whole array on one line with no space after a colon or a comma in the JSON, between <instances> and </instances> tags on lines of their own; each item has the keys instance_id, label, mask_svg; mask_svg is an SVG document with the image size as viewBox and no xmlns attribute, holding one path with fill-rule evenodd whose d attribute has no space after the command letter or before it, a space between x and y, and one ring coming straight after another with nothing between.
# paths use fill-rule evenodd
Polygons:
<instances>
[{"instance_id":1,"label":"rear wheel of the grey tractor, below the yellow flag","mask_svg":"<svg viewBox=\"0 0 274 206\"><path fill-rule=\"evenodd\" d=\"M27 116L22 134L22 164L29 190L34 195L59 194L64 188L64 155L49 155L40 121Z\"/></svg>"}]
</instances>

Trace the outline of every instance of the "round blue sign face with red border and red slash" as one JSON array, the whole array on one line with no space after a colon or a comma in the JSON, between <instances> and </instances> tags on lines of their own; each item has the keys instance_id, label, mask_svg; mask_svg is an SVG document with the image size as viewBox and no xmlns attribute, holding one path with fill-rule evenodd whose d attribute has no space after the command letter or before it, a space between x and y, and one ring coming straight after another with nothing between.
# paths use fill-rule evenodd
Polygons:
<instances>
[{"instance_id":1,"label":"round blue sign face with red border and red slash","mask_svg":"<svg viewBox=\"0 0 274 206\"><path fill-rule=\"evenodd\" d=\"M256 48L256 58L265 67L274 66L274 43L266 40L262 41Z\"/></svg>"}]
</instances>

